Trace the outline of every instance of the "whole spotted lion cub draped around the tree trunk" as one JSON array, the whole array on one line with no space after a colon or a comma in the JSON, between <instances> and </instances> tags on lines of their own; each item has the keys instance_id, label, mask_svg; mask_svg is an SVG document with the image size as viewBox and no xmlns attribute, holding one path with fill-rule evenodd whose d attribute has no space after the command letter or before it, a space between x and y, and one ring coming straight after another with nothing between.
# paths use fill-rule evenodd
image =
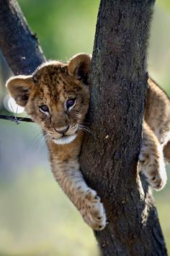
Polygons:
<instances>
[{"instance_id":1,"label":"whole spotted lion cub draped around the tree trunk","mask_svg":"<svg viewBox=\"0 0 170 256\"><path fill-rule=\"evenodd\" d=\"M67 64L49 61L32 75L12 77L6 86L17 104L24 106L32 120L42 127L55 179L78 208L84 221L92 229L102 230L106 225L104 207L97 192L84 181L79 167L83 121L89 108L90 67L91 57L78 54ZM166 95L151 82L149 97L155 94L152 101L155 101L157 91L159 105L167 105L167 121L157 120L160 113L157 103L148 104L139 168L152 187L161 189L166 183L162 150L169 140L170 111ZM158 118L164 119L164 116Z\"/></svg>"}]
</instances>

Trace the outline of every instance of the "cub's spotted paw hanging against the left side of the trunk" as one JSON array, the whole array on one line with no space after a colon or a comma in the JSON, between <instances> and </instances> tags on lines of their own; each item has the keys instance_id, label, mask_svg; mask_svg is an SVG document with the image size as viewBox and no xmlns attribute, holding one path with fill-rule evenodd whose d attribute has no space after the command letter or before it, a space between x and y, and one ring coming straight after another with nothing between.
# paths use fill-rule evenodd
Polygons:
<instances>
[{"instance_id":1,"label":"cub's spotted paw hanging against the left side of the trunk","mask_svg":"<svg viewBox=\"0 0 170 256\"><path fill-rule=\"evenodd\" d=\"M84 221L94 230L102 230L106 226L107 218L100 197L90 189L85 195L84 204L80 210Z\"/></svg>"}]
</instances>

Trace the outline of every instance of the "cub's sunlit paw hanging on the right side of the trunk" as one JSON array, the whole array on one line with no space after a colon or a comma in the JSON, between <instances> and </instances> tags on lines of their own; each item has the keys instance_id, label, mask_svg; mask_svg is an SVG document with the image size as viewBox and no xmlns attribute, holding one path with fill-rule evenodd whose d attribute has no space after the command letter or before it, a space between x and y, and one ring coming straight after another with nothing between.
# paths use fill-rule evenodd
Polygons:
<instances>
[{"instance_id":1,"label":"cub's sunlit paw hanging on the right side of the trunk","mask_svg":"<svg viewBox=\"0 0 170 256\"><path fill-rule=\"evenodd\" d=\"M153 155L139 155L139 171L145 174L148 183L153 189L160 190L166 184L166 168L163 157L154 158Z\"/></svg>"}]
</instances>

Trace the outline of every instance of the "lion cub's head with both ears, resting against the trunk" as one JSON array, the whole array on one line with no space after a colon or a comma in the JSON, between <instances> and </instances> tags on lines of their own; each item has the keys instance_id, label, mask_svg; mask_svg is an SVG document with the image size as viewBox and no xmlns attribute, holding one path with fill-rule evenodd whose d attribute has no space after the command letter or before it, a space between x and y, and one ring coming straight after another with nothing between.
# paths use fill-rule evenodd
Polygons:
<instances>
[{"instance_id":1,"label":"lion cub's head with both ears, resting against the trunk","mask_svg":"<svg viewBox=\"0 0 170 256\"><path fill-rule=\"evenodd\" d=\"M50 61L32 75L10 78L6 86L19 106L57 144L72 142L89 108L91 57L74 56L68 64Z\"/></svg>"}]
</instances>

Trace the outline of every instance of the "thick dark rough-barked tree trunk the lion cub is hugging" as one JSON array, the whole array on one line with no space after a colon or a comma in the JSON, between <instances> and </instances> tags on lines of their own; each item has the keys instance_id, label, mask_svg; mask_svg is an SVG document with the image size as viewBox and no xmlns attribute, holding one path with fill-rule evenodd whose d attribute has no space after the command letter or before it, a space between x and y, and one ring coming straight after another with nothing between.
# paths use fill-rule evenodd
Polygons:
<instances>
[{"instance_id":1,"label":"thick dark rough-barked tree trunk the lion cub is hugging","mask_svg":"<svg viewBox=\"0 0 170 256\"><path fill-rule=\"evenodd\" d=\"M95 232L104 256L167 255L153 197L137 171L147 88L146 48L154 0L102 0L91 71L81 169L104 202Z\"/></svg>"}]
</instances>

